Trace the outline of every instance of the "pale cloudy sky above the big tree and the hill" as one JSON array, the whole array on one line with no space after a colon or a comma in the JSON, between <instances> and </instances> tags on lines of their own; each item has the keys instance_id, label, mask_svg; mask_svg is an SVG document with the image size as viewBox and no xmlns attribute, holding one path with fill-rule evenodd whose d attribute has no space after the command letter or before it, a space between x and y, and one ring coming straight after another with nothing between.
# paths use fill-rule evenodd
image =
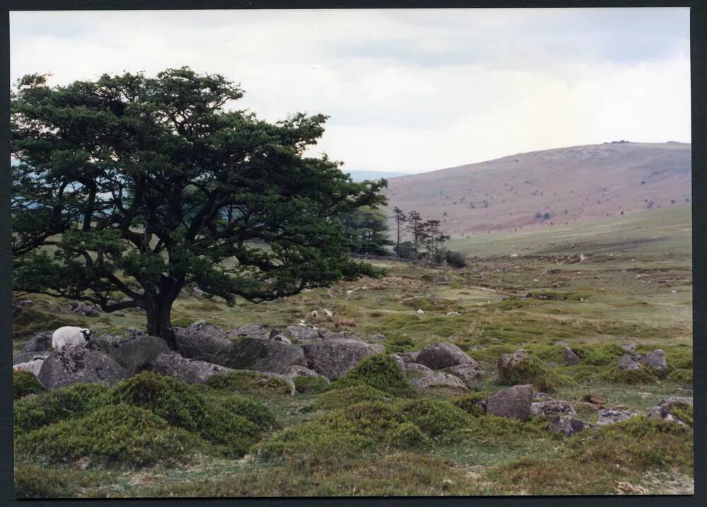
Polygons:
<instances>
[{"instance_id":1,"label":"pale cloudy sky above the big tree and the hill","mask_svg":"<svg viewBox=\"0 0 707 507\"><path fill-rule=\"evenodd\" d=\"M11 79L183 65L267 120L330 116L315 153L421 173L545 148L690 137L689 10L11 13Z\"/></svg>"}]
</instances>

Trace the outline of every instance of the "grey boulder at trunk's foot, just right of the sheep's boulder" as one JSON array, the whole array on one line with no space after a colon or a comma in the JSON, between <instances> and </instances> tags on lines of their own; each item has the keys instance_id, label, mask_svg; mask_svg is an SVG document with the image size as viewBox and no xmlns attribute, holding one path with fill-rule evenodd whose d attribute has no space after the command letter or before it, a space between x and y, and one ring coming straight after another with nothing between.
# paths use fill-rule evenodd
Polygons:
<instances>
[{"instance_id":1,"label":"grey boulder at trunk's foot, just right of the sheep's boulder","mask_svg":"<svg viewBox=\"0 0 707 507\"><path fill-rule=\"evenodd\" d=\"M147 334L129 338L107 334L91 338L86 348L107 354L132 375L150 370L157 356L170 351L165 340Z\"/></svg>"}]
</instances>

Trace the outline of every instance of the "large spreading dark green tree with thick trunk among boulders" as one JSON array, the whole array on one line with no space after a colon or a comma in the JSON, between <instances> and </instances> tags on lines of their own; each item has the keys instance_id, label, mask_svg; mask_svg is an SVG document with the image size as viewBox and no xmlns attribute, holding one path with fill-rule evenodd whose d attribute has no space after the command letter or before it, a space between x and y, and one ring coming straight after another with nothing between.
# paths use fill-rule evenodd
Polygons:
<instances>
[{"instance_id":1,"label":"large spreading dark green tree with thick trunk among boulders","mask_svg":"<svg viewBox=\"0 0 707 507\"><path fill-rule=\"evenodd\" d=\"M144 308L174 348L173 302L196 284L233 305L375 274L347 257L340 216L385 204L305 156L324 115L274 124L226 109L243 95L187 67L11 96L13 289Z\"/></svg>"}]
</instances>

